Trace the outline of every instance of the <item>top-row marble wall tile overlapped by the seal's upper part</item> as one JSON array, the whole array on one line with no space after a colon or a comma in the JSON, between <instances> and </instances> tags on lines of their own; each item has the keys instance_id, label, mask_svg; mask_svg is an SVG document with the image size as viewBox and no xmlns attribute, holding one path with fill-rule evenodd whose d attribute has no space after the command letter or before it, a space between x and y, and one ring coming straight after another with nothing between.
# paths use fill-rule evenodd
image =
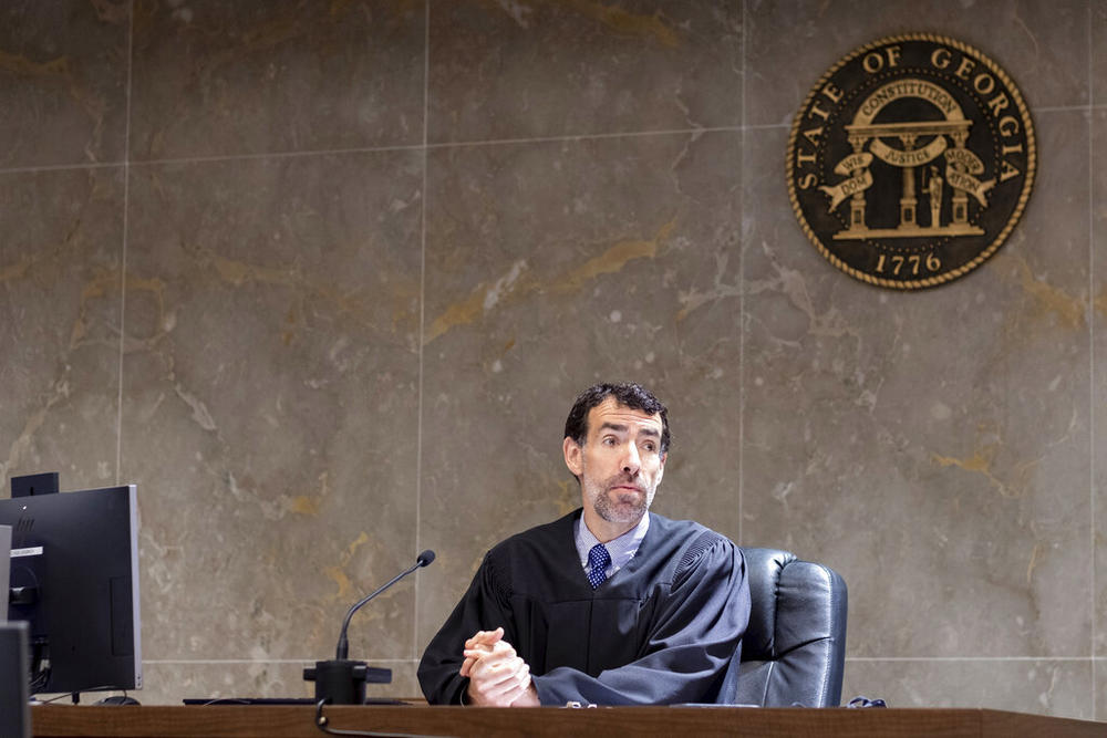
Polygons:
<instances>
[{"instance_id":1,"label":"top-row marble wall tile overlapped by the seal's upper part","mask_svg":"<svg viewBox=\"0 0 1107 738\"><path fill-rule=\"evenodd\" d=\"M790 123L842 56L889 35L935 33L980 49L1007 72L1032 113L1088 103L1088 6L1083 0L751 0L746 122Z\"/></svg>"}]
</instances>

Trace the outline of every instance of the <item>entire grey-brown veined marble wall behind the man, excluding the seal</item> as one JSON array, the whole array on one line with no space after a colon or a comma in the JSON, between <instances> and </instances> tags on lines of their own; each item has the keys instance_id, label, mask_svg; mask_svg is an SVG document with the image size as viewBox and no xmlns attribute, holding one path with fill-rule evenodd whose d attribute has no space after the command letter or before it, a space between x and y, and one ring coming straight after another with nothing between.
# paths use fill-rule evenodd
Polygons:
<instances>
[{"instance_id":1,"label":"entire grey-brown veined marble wall behind the man, excluding the seal","mask_svg":"<svg viewBox=\"0 0 1107 738\"><path fill-rule=\"evenodd\" d=\"M577 505L577 392L635 378L660 512L848 581L844 696L1107 719L1104 0L0 19L0 471L138 485L144 703L310 695L432 548L352 627L418 694L483 552ZM1006 69L1041 158L996 257L897 293L811 248L784 157L913 31Z\"/></svg>"}]
</instances>

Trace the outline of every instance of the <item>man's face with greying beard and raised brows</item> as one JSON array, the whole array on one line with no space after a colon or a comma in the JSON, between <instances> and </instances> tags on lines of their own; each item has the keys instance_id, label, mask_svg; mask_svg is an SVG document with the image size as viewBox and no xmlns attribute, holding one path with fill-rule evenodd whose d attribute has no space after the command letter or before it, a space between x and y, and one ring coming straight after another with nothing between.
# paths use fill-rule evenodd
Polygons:
<instances>
[{"instance_id":1,"label":"man's face with greying beard and raised brows","mask_svg":"<svg viewBox=\"0 0 1107 738\"><path fill-rule=\"evenodd\" d=\"M588 412L584 445L565 439L565 462L580 479L584 521L593 533L629 530L653 502L665 470L662 427L661 415L607 397Z\"/></svg>"}]
</instances>

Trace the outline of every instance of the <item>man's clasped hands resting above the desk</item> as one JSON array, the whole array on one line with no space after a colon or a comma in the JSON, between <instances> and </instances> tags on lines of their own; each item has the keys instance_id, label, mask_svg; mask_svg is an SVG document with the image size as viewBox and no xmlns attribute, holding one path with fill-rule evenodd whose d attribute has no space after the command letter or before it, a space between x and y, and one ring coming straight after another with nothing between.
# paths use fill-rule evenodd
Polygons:
<instances>
[{"instance_id":1,"label":"man's clasped hands resting above the desk","mask_svg":"<svg viewBox=\"0 0 1107 738\"><path fill-rule=\"evenodd\" d=\"M504 640L504 628L478 631L465 642L458 673L468 677L469 703L482 707L538 707L530 666Z\"/></svg>"}]
</instances>

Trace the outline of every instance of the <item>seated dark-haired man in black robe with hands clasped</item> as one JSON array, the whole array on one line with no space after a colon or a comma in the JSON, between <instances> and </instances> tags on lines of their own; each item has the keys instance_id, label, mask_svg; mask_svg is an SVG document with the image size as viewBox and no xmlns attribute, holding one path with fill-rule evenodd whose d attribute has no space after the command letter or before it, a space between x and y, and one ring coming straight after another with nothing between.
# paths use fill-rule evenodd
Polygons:
<instances>
[{"instance_id":1,"label":"seated dark-haired man in black robe with hands clasped","mask_svg":"<svg viewBox=\"0 0 1107 738\"><path fill-rule=\"evenodd\" d=\"M668 410L635 384L584 391L566 420L583 507L497 544L431 641L431 704L715 701L749 620L742 552L649 512Z\"/></svg>"}]
</instances>

